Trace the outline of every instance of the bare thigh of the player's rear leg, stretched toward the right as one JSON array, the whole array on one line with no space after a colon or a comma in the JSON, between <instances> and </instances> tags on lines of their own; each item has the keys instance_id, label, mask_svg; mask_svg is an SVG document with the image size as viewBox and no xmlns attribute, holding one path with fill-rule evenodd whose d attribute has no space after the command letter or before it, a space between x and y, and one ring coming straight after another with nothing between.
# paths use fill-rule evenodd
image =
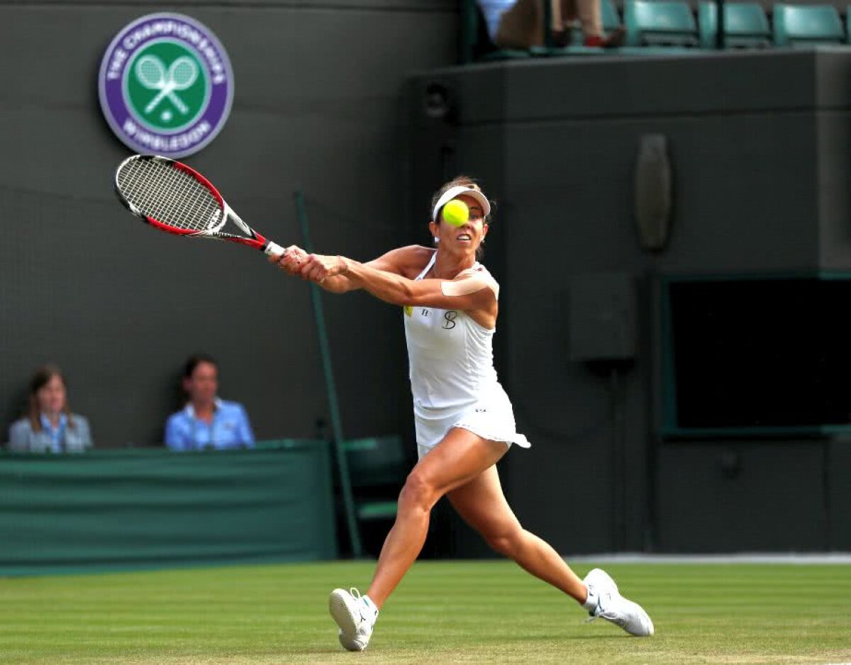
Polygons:
<instances>
[{"instance_id":1,"label":"bare thigh of the player's rear leg, stretched toward the right","mask_svg":"<svg viewBox=\"0 0 851 665\"><path fill-rule=\"evenodd\" d=\"M522 528L505 499L495 466L456 487L447 498L461 518L486 538L506 536Z\"/></svg>"}]
</instances>

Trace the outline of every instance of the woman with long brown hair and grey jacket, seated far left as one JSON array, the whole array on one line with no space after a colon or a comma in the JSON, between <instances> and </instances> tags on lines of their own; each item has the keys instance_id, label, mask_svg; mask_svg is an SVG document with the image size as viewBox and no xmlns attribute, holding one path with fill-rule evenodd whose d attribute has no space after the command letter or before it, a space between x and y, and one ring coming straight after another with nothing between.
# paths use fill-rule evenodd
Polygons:
<instances>
[{"instance_id":1,"label":"woman with long brown hair and grey jacket, seated far left","mask_svg":"<svg viewBox=\"0 0 851 665\"><path fill-rule=\"evenodd\" d=\"M30 381L26 417L9 428L9 450L83 452L92 446L89 421L68 407L60 368L46 365L37 369Z\"/></svg>"}]
</instances>

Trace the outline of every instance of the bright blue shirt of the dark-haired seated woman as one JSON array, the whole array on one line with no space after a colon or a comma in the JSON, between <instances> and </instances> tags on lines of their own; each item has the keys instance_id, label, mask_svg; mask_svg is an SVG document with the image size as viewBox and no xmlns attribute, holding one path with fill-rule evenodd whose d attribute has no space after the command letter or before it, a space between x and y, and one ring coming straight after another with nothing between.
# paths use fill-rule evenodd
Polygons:
<instances>
[{"instance_id":1,"label":"bright blue shirt of the dark-haired seated woman","mask_svg":"<svg viewBox=\"0 0 851 665\"><path fill-rule=\"evenodd\" d=\"M191 404L168 417L165 445L171 450L203 450L254 446L254 432L248 414L235 401L215 401L213 420L209 423L195 417Z\"/></svg>"}]
</instances>

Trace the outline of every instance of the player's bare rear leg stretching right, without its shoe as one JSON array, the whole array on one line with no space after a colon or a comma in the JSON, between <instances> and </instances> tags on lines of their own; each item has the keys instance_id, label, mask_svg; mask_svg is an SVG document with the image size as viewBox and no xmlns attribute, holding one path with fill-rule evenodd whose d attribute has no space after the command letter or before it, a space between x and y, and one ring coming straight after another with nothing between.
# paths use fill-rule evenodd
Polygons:
<instances>
[{"instance_id":1,"label":"player's bare rear leg stretching right, without its shoe","mask_svg":"<svg viewBox=\"0 0 851 665\"><path fill-rule=\"evenodd\" d=\"M461 518L497 552L580 604L585 603L585 583L549 543L520 525L505 500L496 467L486 469L447 497Z\"/></svg>"}]
</instances>

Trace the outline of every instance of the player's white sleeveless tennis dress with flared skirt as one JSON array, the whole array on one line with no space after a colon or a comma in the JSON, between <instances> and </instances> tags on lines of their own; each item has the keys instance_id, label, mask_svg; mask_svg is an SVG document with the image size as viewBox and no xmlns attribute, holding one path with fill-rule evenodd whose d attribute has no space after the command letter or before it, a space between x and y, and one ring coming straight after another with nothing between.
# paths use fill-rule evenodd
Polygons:
<instances>
[{"instance_id":1,"label":"player's white sleeveless tennis dress with flared skirt","mask_svg":"<svg viewBox=\"0 0 851 665\"><path fill-rule=\"evenodd\" d=\"M436 259L437 251L418 280ZM470 270L494 281L478 262ZM499 293L499 287L495 290ZM511 401L496 378L495 329L480 326L461 310L406 307L403 318L420 458L453 427L528 448L526 437L517 433Z\"/></svg>"}]
</instances>

